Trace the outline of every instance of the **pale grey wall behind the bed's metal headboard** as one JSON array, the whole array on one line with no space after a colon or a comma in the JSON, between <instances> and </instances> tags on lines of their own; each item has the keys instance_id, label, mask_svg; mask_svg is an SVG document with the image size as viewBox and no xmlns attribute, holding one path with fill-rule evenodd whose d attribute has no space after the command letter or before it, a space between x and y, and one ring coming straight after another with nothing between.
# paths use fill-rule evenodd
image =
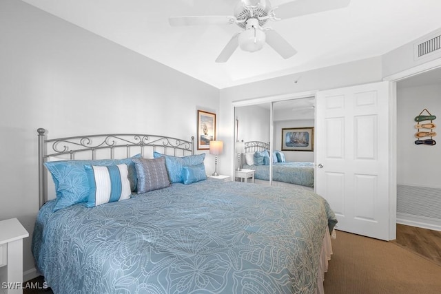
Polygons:
<instances>
[{"instance_id":1,"label":"pale grey wall behind the bed's metal headboard","mask_svg":"<svg viewBox=\"0 0 441 294\"><path fill-rule=\"evenodd\" d=\"M197 109L219 112L219 91L22 1L0 1L0 43L0 220L17 217L30 232L28 271L39 209L37 128L49 138L190 138ZM206 163L214 168L214 160Z\"/></svg>"}]
</instances>

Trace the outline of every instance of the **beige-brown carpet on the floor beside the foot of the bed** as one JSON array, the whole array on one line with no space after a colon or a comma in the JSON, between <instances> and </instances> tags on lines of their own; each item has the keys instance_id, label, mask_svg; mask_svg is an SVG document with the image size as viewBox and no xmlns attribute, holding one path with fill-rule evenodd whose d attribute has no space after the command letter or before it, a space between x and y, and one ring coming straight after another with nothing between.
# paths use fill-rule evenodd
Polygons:
<instances>
[{"instance_id":1,"label":"beige-brown carpet on the floor beside the foot of the bed","mask_svg":"<svg viewBox=\"0 0 441 294\"><path fill-rule=\"evenodd\" d=\"M392 242L337 231L325 294L439 294L441 266Z\"/></svg>"}]
</instances>

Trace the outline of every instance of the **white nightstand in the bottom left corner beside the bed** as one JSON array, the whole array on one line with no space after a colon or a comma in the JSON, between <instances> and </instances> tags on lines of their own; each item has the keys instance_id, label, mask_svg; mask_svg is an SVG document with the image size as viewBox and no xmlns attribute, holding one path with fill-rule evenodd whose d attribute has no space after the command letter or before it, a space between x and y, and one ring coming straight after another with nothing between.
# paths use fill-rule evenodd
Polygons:
<instances>
[{"instance_id":1,"label":"white nightstand in the bottom left corner beside the bed","mask_svg":"<svg viewBox=\"0 0 441 294\"><path fill-rule=\"evenodd\" d=\"M0 221L0 293L1 290L6 294L23 293L23 238L26 237L29 233L17 218ZM3 282L17 286L3 289Z\"/></svg>"}]
</instances>

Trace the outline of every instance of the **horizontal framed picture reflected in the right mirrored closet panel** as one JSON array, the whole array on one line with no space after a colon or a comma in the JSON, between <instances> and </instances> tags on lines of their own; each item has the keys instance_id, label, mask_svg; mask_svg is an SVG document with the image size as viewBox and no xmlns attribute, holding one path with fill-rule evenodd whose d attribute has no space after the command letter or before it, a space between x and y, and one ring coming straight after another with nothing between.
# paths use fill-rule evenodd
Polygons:
<instances>
[{"instance_id":1,"label":"horizontal framed picture reflected in the right mirrored closet panel","mask_svg":"<svg viewBox=\"0 0 441 294\"><path fill-rule=\"evenodd\" d=\"M282 129L282 151L314 151L314 127Z\"/></svg>"}]
</instances>

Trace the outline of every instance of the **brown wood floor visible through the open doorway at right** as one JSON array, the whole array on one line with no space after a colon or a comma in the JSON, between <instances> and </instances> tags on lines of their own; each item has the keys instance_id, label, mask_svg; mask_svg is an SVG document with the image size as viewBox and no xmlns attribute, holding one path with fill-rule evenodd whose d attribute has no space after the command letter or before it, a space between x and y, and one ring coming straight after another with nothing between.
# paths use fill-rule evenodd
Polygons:
<instances>
[{"instance_id":1,"label":"brown wood floor visible through the open doorway at right","mask_svg":"<svg viewBox=\"0 0 441 294\"><path fill-rule=\"evenodd\" d=\"M397 224L397 239L391 242L441 266L441 231Z\"/></svg>"}]
</instances>

